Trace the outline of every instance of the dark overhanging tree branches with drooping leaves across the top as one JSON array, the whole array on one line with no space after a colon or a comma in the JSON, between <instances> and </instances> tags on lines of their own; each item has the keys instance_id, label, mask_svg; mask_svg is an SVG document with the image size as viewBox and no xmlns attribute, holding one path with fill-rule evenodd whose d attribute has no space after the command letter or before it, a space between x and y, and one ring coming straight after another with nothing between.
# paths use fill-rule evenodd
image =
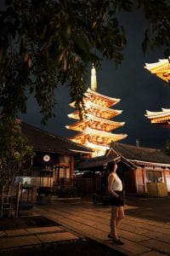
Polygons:
<instances>
[{"instance_id":1,"label":"dark overhanging tree branches with drooping leaves across the top","mask_svg":"<svg viewBox=\"0 0 170 256\"><path fill-rule=\"evenodd\" d=\"M148 20L143 49L166 46L169 55L170 6L157 0L6 0L0 13L0 107L3 116L26 113L33 93L42 123L54 113L54 91L66 84L71 101L83 106L87 67L102 58L123 60L126 35L119 13L134 3Z\"/></svg>"}]
</instances>

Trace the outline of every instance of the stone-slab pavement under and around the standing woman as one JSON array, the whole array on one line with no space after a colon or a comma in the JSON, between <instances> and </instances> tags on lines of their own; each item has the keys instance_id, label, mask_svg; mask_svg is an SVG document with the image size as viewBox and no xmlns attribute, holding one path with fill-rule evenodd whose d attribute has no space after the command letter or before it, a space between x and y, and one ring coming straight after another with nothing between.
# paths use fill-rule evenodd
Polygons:
<instances>
[{"instance_id":1,"label":"stone-slab pavement under and around the standing woman","mask_svg":"<svg viewBox=\"0 0 170 256\"><path fill-rule=\"evenodd\" d=\"M5 252L12 247L40 246L46 242L75 240L85 236L125 255L170 255L170 222L127 215L118 230L125 244L118 246L107 237L110 212L110 207L94 206L91 201L53 201L48 206L36 205L32 214L42 215L60 225L0 231L0 249Z\"/></svg>"}]
</instances>

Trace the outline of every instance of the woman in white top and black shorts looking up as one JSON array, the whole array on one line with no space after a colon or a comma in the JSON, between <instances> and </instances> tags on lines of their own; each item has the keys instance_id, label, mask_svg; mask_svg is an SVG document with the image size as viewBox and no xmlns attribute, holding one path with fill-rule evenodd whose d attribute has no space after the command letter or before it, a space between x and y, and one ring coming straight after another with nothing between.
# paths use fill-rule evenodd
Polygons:
<instances>
[{"instance_id":1,"label":"woman in white top and black shorts looking up","mask_svg":"<svg viewBox=\"0 0 170 256\"><path fill-rule=\"evenodd\" d=\"M124 218L124 201L122 191L122 180L116 174L117 165L114 161L108 163L108 191L111 205L111 233L108 235L116 244L123 245L124 242L117 236L117 226Z\"/></svg>"}]
</instances>

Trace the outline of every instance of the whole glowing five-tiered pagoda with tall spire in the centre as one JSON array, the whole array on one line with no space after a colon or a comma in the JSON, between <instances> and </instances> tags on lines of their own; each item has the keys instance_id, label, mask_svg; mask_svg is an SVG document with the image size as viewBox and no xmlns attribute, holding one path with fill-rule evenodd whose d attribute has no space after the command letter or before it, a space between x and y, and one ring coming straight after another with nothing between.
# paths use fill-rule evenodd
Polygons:
<instances>
[{"instance_id":1,"label":"whole glowing five-tiered pagoda with tall spire in the centre","mask_svg":"<svg viewBox=\"0 0 170 256\"><path fill-rule=\"evenodd\" d=\"M77 119L72 125L66 128L78 131L77 135L70 137L73 142L80 143L88 148L92 148L92 157L104 155L110 148L111 143L120 141L127 137L127 134L111 133L125 122L115 122L111 119L122 113L122 110L112 109L111 107L120 102L120 99L112 98L99 94L97 91L97 79L94 65L91 69L91 88L84 93L84 110L80 119L78 110L68 114L71 119ZM75 107L75 102L71 102L71 108Z\"/></svg>"}]
</instances>

